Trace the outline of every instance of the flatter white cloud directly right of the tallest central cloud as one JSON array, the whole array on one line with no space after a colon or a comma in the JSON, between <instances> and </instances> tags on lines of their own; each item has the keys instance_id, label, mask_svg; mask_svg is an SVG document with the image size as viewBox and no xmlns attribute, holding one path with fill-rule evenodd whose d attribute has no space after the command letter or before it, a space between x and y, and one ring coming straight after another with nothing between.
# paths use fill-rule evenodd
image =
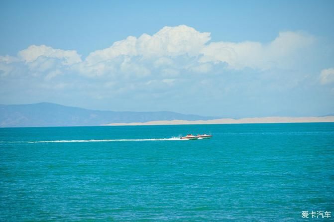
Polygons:
<instances>
[{"instance_id":1,"label":"flatter white cloud directly right of the tallest central cloud","mask_svg":"<svg viewBox=\"0 0 334 222\"><path fill-rule=\"evenodd\" d=\"M270 69L284 66L300 48L312 44L314 38L301 32L280 32L273 41L212 42L202 49L200 62L225 62L230 69Z\"/></svg>"}]
</instances>

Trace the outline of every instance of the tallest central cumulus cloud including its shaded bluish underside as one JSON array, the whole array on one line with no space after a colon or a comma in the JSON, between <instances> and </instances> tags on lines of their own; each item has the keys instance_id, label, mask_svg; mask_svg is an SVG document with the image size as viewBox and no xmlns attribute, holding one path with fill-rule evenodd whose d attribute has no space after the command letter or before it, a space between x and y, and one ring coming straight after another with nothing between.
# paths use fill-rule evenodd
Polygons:
<instances>
[{"instance_id":1,"label":"tallest central cumulus cloud including its shaded bluish underside","mask_svg":"<svg viewBox=\"0 0 334 222\"><path fill-rule=\"evenodd\" d=\"M111 72L119 76L130 70L137 76L147 76L158 67L180 70L189 66L190 58L198 56L210 39L209 32L199 32L186 25L166 26L153 35L128 36L109 48L94 51L77 68L93 77ZM189 61L175 63L179 57Z\"/></svg>"}]
</instances>

